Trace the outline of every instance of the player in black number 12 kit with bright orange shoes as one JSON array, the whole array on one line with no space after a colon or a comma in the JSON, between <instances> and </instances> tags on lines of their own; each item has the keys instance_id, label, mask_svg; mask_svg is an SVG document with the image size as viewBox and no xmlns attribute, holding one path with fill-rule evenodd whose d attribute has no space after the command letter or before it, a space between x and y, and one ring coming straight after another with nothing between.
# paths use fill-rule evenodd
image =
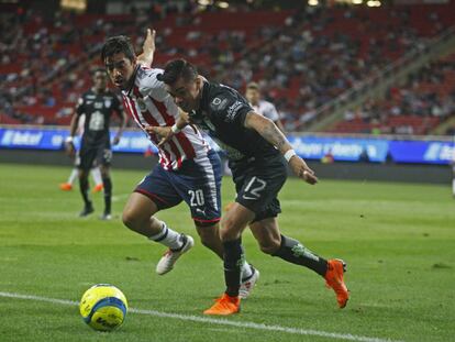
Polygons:
<instances>
[{"instance_id":1,"label":"player in black number 12 kit with bright orange shoes","mask_svg":"<svg viewBox=\"0 0 455 342\"><path fill-rule=\"evenodd\" d=\"M237 196L221 222L224 246L225 293L206 315L232 315L240 311L240 267L243 257L241 235L249 225L260 250L287 262L306 266L325 278L335 291L340 308L348 300L341 260L324 260L299 241L280 233L277 216L281 211L278 191L287 178L285 161L308 184L318 178L292 150L274 122L256 113L234 89L209 82L185 59L170 60L159 79L181 113L171 128L148 128L162 142L193 123L206 131L224 150L230 161Z\"/></svg>"}]
</instances>

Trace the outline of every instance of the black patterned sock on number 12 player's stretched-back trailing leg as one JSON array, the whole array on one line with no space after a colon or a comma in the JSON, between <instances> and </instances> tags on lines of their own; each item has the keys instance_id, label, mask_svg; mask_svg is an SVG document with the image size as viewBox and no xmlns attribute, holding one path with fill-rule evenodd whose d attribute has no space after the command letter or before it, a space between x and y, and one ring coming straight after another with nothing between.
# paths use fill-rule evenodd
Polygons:
<instances>
[{"instance_id":1,"label":"black patterned sock on number 12 player's stretched-back trailing leg","mask_svg":"<svg viewBox=\"0 0 455 342\"><path fill-rule=\"evenodd\" d=\"M321 276L325 276L325 273L328 272L326 260L315 255L310 250L307 250L297 240L285 235L281 235L281 245L274 256L279 256L292 264L306 266Z\"/></svg>"}]
</instances>

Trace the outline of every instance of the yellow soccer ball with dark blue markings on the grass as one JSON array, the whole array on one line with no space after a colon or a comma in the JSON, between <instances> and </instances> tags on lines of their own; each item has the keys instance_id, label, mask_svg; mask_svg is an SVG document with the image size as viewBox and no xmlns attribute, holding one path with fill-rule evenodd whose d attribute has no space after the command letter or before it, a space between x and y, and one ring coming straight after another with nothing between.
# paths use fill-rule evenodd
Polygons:
<instances>
[{"instance_id":1,"label":"yellow soccer ball with dark blue markings on the grass","mask_svg":"<svg viewBox=\"0 0 455 342\"><path fill-rule=\"evenodd\" d=\"M93 285L82 295L79 311L84 321L95 330L112 331L125 320L126 297L113 285Z\"/></svg>"}]
</instances>

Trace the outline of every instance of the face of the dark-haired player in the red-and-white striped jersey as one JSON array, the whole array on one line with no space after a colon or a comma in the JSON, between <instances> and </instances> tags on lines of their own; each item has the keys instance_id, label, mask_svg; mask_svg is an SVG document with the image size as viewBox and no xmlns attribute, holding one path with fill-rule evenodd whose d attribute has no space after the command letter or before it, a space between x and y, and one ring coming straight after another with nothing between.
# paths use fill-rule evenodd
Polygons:
<instances>
[{"instance_id":1,"label":"face of the dark-haired player in the red-and-white striped jersey","mask_svg":"<svg viewBox=\"0 0 455 342\"><path fill-rule=\"evenodd\" d=\"M109 56L104 60L109 78L115 87L124 90L130 84L136 67L136 60L130 60L124 53Z\"/></svg>"}]
</instances>

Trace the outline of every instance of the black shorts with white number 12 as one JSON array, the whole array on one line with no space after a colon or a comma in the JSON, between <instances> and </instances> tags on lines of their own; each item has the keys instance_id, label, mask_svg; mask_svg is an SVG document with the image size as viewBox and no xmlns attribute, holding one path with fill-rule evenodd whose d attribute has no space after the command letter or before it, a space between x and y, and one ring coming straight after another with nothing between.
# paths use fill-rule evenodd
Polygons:
<instances>
[{"instance_id":1,"label":"black shorts with white number 12","mask_svg":"<svg viewBox=\"0 0 455 342\"><path fill-rule=\"evenodd\" d=\"M277 197L288 174L280 154L260 161L231 162L230 167L237 191L235 201L256 213L253 222L281 212Z\"/></svg>"}]
</instances>

